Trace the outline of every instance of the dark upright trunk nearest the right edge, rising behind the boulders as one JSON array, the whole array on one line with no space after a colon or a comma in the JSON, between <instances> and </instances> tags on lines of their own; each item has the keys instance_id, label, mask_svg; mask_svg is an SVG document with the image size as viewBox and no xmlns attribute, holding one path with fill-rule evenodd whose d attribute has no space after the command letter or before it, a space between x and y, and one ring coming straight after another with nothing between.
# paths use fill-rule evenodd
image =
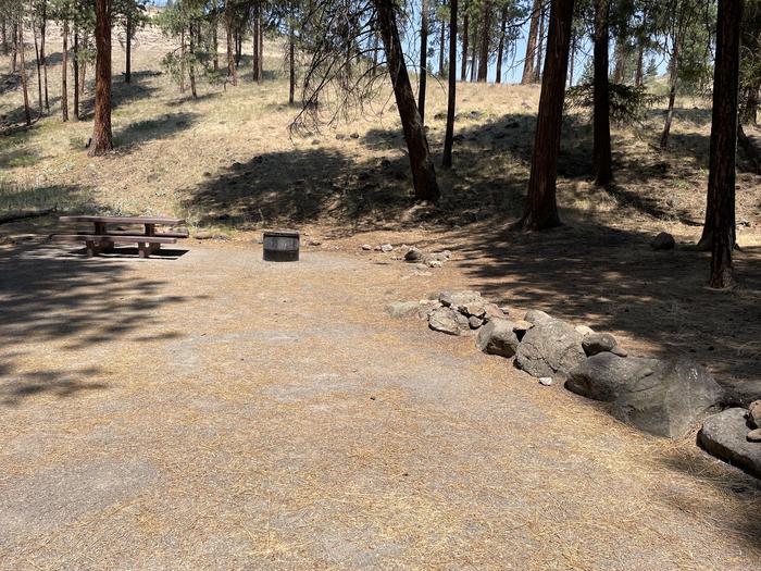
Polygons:
<instances>
[{"instance_id":1,"label":"dark upright trunk nearest the right edge, rising behind the boulders","mask_svg":"<svg viewBox=\"0 0 761 571\"><path fill-rule=\"evenodd\" d=\"M739 88L740 26L744 0L719 0L716 59L713 70L713 111L708 172L706 225L711 243L709 286L735 284L735 159Z\"/></svg>"}]
</instances>

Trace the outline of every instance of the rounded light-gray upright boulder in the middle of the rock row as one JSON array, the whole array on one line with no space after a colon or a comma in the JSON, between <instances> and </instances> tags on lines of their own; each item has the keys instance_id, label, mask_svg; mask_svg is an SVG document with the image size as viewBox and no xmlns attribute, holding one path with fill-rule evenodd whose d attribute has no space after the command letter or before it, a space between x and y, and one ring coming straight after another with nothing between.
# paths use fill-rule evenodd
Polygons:
<instances>
[{"instance_id":1,"label":"rounded light-gray upright boulder in the middle of the rock row","mask_svg":"<svg viewBox=\"0 0 761 571\"><path fill-rule=\"evenodd\" d=\"M554 319L533 323L517 348L519 369L536 377L567 376L569 371L586 359L583 336L571 325Z\"/></svg>"}]
</instances>

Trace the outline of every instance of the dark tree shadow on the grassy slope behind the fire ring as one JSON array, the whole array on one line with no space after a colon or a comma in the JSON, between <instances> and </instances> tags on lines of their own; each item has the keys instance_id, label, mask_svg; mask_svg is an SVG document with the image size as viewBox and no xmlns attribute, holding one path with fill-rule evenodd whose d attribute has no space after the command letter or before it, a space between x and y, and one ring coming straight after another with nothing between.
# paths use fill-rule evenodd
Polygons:
<instances>
[{"instance_id":1,"label":"dark tree shadow on the grassy slope behind the fire ring","mask_svg":"<svg viewBox=\"0 0 761 571\"><path fill-rule=\"evenodd\" d=\"M235 162L189 191L184 207L200 224L240 227L304 223L329 216L353 223L409 206L404 170L396 162L362 163L325 149L294 149Z\"/></svg>"}]
</instances>

